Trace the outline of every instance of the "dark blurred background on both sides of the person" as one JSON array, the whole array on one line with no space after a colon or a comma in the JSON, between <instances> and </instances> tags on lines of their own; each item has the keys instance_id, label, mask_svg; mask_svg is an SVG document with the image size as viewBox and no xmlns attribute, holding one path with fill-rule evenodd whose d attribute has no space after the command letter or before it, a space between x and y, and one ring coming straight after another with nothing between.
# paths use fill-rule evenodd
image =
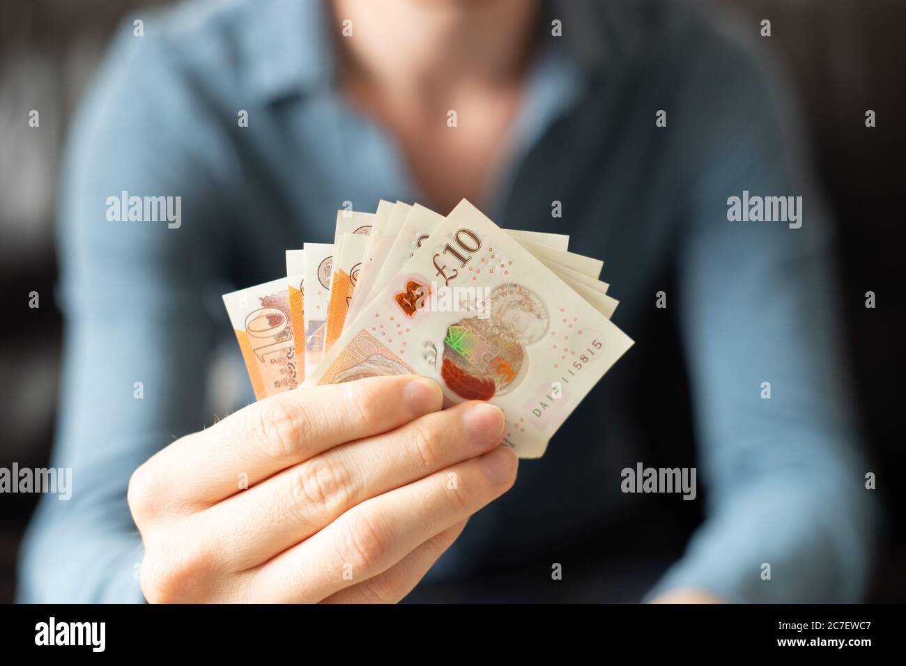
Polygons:
<instances>
[{"instance_id":1,"label":"dark blurred background on both sides of the person","mask_svg":"<svg viewBox=\"0 0 906 666\"><path fill-rule=\"evenodd\" d=\"M140 0L0 0L0 467L47 465L56 414L62 321L53 218L66 128L113 27ZM842 270L846 341L889 532L870 601L906 601L906 380L903 0L720 0L771 19L771 45L807 111L813 162L829 198ZM871 102L866 102L870 100ZM864 113L878 126L864 127ZM40 130L28 127L39 109ZM40 308L28 307L29 293ZM877 294L875 309L865 292ZM670 353L665 362L671 361ZM672 353L676 357L678 354ZM681 367L679 367L681 372ZM675 404L675 408L669 405ZM661 419L687 424L683 401ZM677 410L675 419L670 409ZM692 455L692 437L680 438ZM676 441L676 439L674 439ZM15 559L37 495L0 496L0 602L14 596Z\"/></svg>"}]
</instances>

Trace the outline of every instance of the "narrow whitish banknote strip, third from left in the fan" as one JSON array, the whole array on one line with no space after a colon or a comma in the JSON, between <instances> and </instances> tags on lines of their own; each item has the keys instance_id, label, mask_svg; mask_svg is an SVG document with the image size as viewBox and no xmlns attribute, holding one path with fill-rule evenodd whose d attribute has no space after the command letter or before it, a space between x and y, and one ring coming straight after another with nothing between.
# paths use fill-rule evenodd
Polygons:
<instances>
[{"instance_id":1,"label":"narrow whitish banknote strip, third from left in the fan","mask_svg":"<svg viewBox=\"0 0 906 666\"><path fill-rule=\"evenodd\" d=\"M331 296L333 243L304 244L303 315L305 331L305 375L314 372L324 355L327 333L327 305Z\"/></svg>"}]
</instances>

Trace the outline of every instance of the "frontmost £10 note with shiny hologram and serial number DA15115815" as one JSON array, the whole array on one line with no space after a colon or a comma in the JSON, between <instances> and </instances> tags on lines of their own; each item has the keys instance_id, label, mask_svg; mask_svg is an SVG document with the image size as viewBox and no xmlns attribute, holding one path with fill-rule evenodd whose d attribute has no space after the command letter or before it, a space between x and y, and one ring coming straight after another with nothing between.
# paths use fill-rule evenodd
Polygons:
<instances>
[{"instance_id":1,"label":"frontmost \u00a310 note with shiny hologram and serial number DA15115815","mask_svg":"<svg viewBox=\"0 0 906 666\"><path fill-rule=\"evenodd\" d=\"M429 217L413 208L415 215ZM591 261L584 267L600 273ZM538 458L631 344L463 200L363 306L307 380L409 372L431 377L448 404L486 400L503 409L504 444L522 458Z\"/></svg>"}]
</instances>

